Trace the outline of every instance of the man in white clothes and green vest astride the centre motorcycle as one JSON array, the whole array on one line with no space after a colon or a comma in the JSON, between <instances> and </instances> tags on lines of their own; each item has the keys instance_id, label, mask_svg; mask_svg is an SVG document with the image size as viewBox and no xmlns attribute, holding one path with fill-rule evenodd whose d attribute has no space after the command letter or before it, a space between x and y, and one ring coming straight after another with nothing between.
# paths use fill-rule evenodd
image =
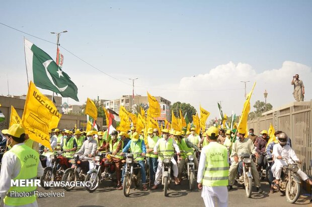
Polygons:
<instances>
[{"instance_id":1,"label":"man in white clothes and green vest astride the centre motorcycle","mask_svg":"<svg viewBox=\"0 0 312 207\"><path fill-rule=\"evenodd\" d=\"M154 146L154 154L158 154L159 152L163 156L171 156L172 154L174 154L176 150L177 155L180 155L181 154L180 148L177 145L176 141L172 138L169 138L169 130L163 129L162 132L163 132L163 137L160 138ZM173 168L173 176L175 178L175 184L178 185L179 184L179 179L178 179L179 168L178 168L177 161L175 160L174 157L171 159L171 163L172 163L172 168ZM162 168L163 168L163 158L159 156L154 185L150 189L158 188L158 185L160 183L159 179L162 177L162 171L163 171Z\"/></svg>"}]
</instances>

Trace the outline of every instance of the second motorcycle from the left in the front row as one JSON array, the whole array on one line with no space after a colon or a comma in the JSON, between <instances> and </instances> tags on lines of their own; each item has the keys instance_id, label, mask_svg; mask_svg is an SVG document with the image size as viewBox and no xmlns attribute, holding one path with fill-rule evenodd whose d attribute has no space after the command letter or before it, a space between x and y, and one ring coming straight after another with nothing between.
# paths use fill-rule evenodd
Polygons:
<instances>
[{"instance_id":1,"label":"second motorcycle from the left in the front row","mask_svg":"<svg viewBox=\"0 0 312 207\"><path fill-rule=\"evenodd\" d=\"M93 161L93 158L87 157L86 155L81 155L79 156L78 154L74 154L73 158L69 160L71 163L71 167L66 169L64 172L64 175L62 177L62 182L76 182L76 181L84 181L86 174L83 173L82 170L82 160L88 160L88 161ZM75 186L70 185L64 186L64 189L66 191L72 190Z\"/></svg>"}]
</instances>

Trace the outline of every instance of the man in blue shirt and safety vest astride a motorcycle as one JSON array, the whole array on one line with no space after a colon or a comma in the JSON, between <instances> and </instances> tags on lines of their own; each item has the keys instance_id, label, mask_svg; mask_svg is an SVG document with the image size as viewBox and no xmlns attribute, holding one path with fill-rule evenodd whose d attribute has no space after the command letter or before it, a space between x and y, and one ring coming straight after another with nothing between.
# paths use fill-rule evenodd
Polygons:
<instances>
[{"instance_id":1,"label":"man in blue shirt and safety vest astride a motorcycle","mask_svg":"<svg viewBox=\"0 0 312 207\"><path fill-rule=\"evenodd\" d=\"M140 166L140 172L141 172L142 189L146 191L147 190L146 173L145 173L145 166L144 166L144 156L146 154L146 147L145 147L144 140L139 139L139 134L137 132L134 132L132 134L132 139L123 148L122 153L126 153L128 149L130 149L130 152L133 154L133 158L135 158L135 160L138 161L138 165ZM122 170L121 182L123 181L124 173L125 173L125 167ZM122 186L121 186L121 189L122 189Z\"/></svg>"}]
</instances>

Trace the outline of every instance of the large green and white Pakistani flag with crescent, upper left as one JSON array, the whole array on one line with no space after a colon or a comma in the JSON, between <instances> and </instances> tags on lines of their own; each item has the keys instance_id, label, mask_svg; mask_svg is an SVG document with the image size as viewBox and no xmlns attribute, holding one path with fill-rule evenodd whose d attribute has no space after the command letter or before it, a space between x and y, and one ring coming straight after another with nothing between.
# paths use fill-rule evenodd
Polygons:
<instances>
[{"instance_id":1,"label":"large green and white Pakistani flag with crescent, upper left","mask_svg":"<svg viewBox=\"0 0 312 207\"><path fill-rule=\"evenodd\" d=\"M43 50L24 39L27 70L32 70L33 80L37 87L53 91L62 97L69 97L75 101L78 89L53 59Z\"/></svg>"}]
</instances>

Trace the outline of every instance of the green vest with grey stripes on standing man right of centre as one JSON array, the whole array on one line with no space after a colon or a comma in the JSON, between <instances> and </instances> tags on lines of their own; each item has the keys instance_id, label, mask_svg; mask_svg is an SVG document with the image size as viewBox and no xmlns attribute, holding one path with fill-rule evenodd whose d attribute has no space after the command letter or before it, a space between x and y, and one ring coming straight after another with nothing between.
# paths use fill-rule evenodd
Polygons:
<instances>
[{"instance_id":1,"label":"green vest with grey stripes on standing man right of centre","mask_svg":"<svg viewBox=\"0 0 312 207\"><path fill-rule=\"evenodd\" d=\"M211 142L205 148L206 168L203 185L226 186L228 185L227 149L222 144Z\"/></svg>"}]
</instances>

